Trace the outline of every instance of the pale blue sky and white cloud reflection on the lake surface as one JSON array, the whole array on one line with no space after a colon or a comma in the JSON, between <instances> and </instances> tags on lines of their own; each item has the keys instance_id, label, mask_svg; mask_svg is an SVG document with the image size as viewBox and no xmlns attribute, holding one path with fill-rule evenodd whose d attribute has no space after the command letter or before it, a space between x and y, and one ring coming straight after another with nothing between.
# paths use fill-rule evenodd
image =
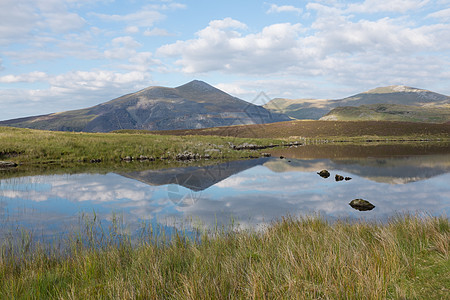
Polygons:
<instances>
[{"instance_id":1,"label":"pale blue sky and white cloud reflection on the lake surface","mask_svg":"<svg viewBox=\"0 0 450 300\"><path fill-rule=\"evenodd\" d=\"M80 211L95 211L102 219L117 212L131 227L142 220L166 225L168 220L191 219L207 228L226 225L232 219L242 228L257 228L288 214L319 213L328 219L369 220L385 220L405 211L449 215L448 164L412 162L414 159L378 164L376 160L293 159L288 163L271 159L245 168L240 164L238 173L228 169L220 172L225 174L222 177L214 178L213 168L208 167L209 181L203 190L173 184L167 174L155 177L164 170L133 173L132 177L110 173L4 179L0 180L0 217L46 230L50 223L53 227L63 223L70 226ZM227 166L232 168L233 164ZM332 176L321 178L316 174L321 169L328 169ZM201 180L201 168L189 170L195 172L196 180ZM171 174L175 171L170 170ZM335 182L336 173L353 179ZM380 177L387 179L377 180ZM168 184L161 178L168 178ZM152 180L157 184L152 185ZM355 198L368 200L376 207L356 211L348 205Z\"/></svg>"}]
</instances>

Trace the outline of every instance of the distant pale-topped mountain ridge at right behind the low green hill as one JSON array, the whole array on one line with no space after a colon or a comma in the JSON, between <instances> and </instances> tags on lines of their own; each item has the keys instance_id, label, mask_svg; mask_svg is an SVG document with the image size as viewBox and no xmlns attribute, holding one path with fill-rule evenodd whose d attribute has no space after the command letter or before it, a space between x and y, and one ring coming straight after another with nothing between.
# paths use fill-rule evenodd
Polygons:
<instances>
[{"instance_id":1,"label":"distant pale-topped mountain ridge at right behind the low green hill","mask_svg":"<svg viewBox=\"0 0 450 300\"><path fill-rule=\"evenodd\" d=\"M449 121L446 119L446 113L433 115L436 110L434 108L448 107L450 105L450 97L441 95L428 90L412 88L402 85L393 85L387 87L379 87L369 90L364 93L356 94L343 99L324 100L324 99L273 99L264 107L273 111L284 113L294 119L312 119L318 120L327 115L331 110L338 108L338 112L342 112L342 107L359 107L361 105L373 104L389 104L397 105L390 107L390 114L378 111L377 118L371 120L396 120L396 121L414 121L414 122L440 122L438 120ZM403 107L402 107L403 106ZM413 106L413 107L409 107ZM423 107L424 109L417 110L416 107ZM368 120L364 114L367 110L375 108L361 108L361 118L353 117L351 120ZM351 110L351 109L350 109ZM354 112L356 110L352 110ZM412 118L392 118L394 111L398 115L408 115L414 112ZM352 113L353 114L353 113ZM355 113L356 114L356 113ZM372 113L373 115L373 113ZM383 116L381 116L383 115ZM335 118L335 119L333 119ZM344 120L341 119L341 114L333 113L333 117L325 117L323 120ZM350 120L350 119L349 119Z\"/></svg>"}]
</instances>

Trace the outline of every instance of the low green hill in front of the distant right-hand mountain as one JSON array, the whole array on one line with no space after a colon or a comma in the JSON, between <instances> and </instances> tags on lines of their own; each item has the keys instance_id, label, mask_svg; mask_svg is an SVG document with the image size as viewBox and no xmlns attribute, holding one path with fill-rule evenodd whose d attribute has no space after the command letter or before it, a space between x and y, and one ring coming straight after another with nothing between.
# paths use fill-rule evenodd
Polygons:
<instances>
[{"instance_id":1,"label":"low green hill in front of the distant right-hand mountain","mask_svg":"<svg viewBox=\"0 0 450 300\"><path fill-rule=\"evenodd\" d=\"M443 106L413 106L369 104L336 107L320 118L324 121L402 121L444 123L450 121L450 104Z\"/></svg>"}]
</instances>

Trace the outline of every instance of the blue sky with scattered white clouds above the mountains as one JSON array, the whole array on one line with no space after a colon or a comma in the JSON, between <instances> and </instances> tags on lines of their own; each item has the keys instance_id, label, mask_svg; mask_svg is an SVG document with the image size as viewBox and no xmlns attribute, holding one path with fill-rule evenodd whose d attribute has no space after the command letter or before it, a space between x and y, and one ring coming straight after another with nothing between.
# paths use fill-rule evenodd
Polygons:
<instances>
[{"instance_id":1,"label":"blue sky with scattered white clouds above the mountains","mask_svg":"<svg viewBox=\"0 0 450 300\"><path fill-rule=\"evenodd\" d=\"M0 120L193 79L256 104L450 95L450 0L0 1Z\"/></svg>"}]
</instances>

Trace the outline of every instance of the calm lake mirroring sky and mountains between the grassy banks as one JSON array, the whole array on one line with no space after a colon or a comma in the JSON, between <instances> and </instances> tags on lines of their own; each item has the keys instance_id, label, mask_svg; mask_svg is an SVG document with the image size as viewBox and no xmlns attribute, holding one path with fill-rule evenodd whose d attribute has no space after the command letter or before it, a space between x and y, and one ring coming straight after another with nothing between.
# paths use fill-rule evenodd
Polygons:
<instances>
[{"instance_id":1,"label":"calm lake mirroring sky and mountains between the grassy banks","mask_svg":"<svg viewBox=\"0 0 450 300\"><path fill-rule=\"evenodd\" d=\"M39 237L61 236L94 213L104 224L120 218L132 234L142 224L260 229L288 215L384 222L404 212L450 214L448 145L303 146L272 155L105 174L15 177L0 171L0 234L23 228ZM331 176L320 177L323 169ZM336 174L351 180L336 181ZM352 208L356 198L375 208Z\"/></svg>"}]
</instances>

